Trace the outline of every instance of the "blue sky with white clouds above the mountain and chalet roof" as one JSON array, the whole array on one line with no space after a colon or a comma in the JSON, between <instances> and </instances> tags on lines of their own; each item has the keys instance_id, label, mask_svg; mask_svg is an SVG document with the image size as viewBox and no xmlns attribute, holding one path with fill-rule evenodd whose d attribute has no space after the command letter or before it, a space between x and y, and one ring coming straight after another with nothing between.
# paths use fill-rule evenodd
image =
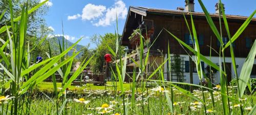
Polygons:
<instances>
[{"instance_id":1,"label":"blue sky with white clouds above the mountain and chalet roof","mask_svg":"<svg viewBox=\"0 0 256 115\"><path fill-rule=\"evenodd\" d=\"M202 1L210 13L215 12L215 4L218 0ZM256 9L255 0L222 0L222 2L225 4L226 14L249 16ZM62 35L62 20L65 37L75 42L83 36L78 44L87 45L93 34L115 32L116 14L118 14L118 29L121 34L129 6L176 10L177 7L184 7L185 4L184 0L50 0L46 5L49 6L49 11L45 18L54 35ZM197 0L195 0L195 11L203 12ZM91 48L95 48L95 44L90 44Z\"/></svg>"}]
</instances>

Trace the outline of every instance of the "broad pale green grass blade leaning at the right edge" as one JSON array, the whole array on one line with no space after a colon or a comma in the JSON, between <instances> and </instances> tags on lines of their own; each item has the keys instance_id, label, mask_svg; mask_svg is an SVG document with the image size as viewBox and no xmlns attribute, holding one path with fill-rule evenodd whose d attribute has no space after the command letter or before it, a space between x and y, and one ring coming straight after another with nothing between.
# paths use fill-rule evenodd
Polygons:
<instances>
[{"instance_id":1,"label":"broad pale green grass blade leaning at the right edge","mask_svg":"<svg viewBox=\"0 0 256 115\"><path fill-rule=\"evenodd\" d=\"M240 76L239 76L239 90L240 90L240 96L243 97L244 91L248 82L248 79L250 78L254 58L256 55L256 40L254 40L253 45L251 47L251 50L245 59L244 65L242 67Z\"/></svg>"}]
</instances>

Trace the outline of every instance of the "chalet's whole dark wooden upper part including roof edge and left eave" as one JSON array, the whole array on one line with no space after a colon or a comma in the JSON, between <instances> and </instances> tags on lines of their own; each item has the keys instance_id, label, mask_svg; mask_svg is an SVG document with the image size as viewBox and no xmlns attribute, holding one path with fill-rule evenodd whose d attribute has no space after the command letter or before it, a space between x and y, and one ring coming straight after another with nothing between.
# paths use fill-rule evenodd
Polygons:
<instances>
[{"instance_id":1,"label":"chalet's whole dark wooden upper part including roof edge and left eave","mask_svg":"<svg viewBox=\"0 0 256 115\"><path fill-rule=\"evenodd\" d=\"M162 11L162 10L158 10L158 9L152 10L152 9L147 9L142 7L130 7L130 12L129 12L129 15L127 16L125 27L123 30L122 44L127 45L130 50L134 50L136 47L134 46L134 44L130 43L130 40L127 39L127 37L131 36L133 30L138 29L139 26L143 23L143 21L152 20L153 27L154 27L154 35L150 38L150 41L153 42L157 38L157 36L158 38L153 44L153 47L151 50L155 50L155 51L158 49L163 50L163 53L166 54L167 48L168 48L167 44L169 42L169 45L170 45L169 48L171 53L187 54L185 52L186 49L183 50L179 42L175 38L173 38L171 35L169 35L165 30L162 30L162 29L168 30L169 32L173 33L175 36L177 36L178 38L180 38L185 42L186 41L185 37L187 34L189 34L189 31L186 26L183 14L185 15L189 23L189 26L191 28L190 14L188 14L188 12L185 12L185 11L175 11L175 12L171 10L167 10L167 11L164 10L162 12L157 12L157 11ZM143 12L146 14L143 14ZM217 16L218 14L214 14L212 16L212 19L214 20L217 29L220 30L219 18ZM231 36L233 36L237 32L237 30L240 28L240 26L243 24L246 17L232 16L232 15L229 15L229 17L230 18L228 18L227 16L229 31ZM198 37L199 36L202 37L202 44L200 44L201 54L205 56L209 56L210 43L213 49L215 49L216 51L219 51L218 39L215 36L215 34L212 32L211 28L209 27L205 16L202 13L200 15L198 13L195 13L195 15L193 15L193 19L194 19L196 31L198 33ZM223 32L223 37L226 37L226 39L228 40L228 36L227 36L224 25L222 25L222 32ZM246 47L248 44L246 39L250 39L250 42L252 43L255 40L255 38L256 38L256 19L253 18L250 24L248 25L248 27L239 36L239 38L233 43L235 56L247 57L250 51L250 47ZM211 55L219 56L217 53L213 51ZM229 48L225 50L225 56L230 57Z\"/></svg>"}]
</instances>

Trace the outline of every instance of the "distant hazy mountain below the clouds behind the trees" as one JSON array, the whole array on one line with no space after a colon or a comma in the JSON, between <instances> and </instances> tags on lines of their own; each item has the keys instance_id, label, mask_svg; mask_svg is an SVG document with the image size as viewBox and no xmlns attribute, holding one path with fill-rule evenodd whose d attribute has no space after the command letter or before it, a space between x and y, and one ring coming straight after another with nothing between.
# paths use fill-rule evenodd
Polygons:
<instances>
[{"instance_id":1,"label":"distant hazy mountain below the clouds behind the trees","mask_svg":"<svg viewBox=\"0 0 256 115\"><path fill-rule=\"evenodd\" d=\"M62 47L62 37L63 37L63 36L55 36L55 37L52 37L52 38L51 38L52 44L55 44L55 45L57 46L56 48L53 48L54 50L59 51L59 42L60 42L61 47ZM69 48L71 45L73 45L73 44L74 44L74 43L72 43L71 41L67 40L68 48ZM64 45L65 45L65 47L66 47L66 38L65 38L65 37L64 37ZM74 48L76 48L76 51L80 51L81 49L84 48L84 46L77 44L76 47L74 47ZM68 52L68 55L69 55L69 56L71 56L72 54L73 54L73 50L71 50L71 51ZM82 54L83 54L83 51L81 51L81 53L78 54L78 55L76 56L76 58L81 57Z\"/></svg>"}]
</instances>

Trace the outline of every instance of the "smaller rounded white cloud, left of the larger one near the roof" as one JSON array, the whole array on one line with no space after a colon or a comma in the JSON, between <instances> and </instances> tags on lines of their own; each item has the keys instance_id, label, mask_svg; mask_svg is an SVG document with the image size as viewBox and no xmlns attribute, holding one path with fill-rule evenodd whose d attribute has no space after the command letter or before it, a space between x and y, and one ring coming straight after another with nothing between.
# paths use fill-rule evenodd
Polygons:
<instances>
[{"instance_id":1,"label":"smaller rounded white cloud, left of the larger one near the roof","mask_svg":"<svg viewBox=\"0 0 256 115\"><path fill-rule=\"evenodd\" d=\"M105 6L102 5L93 5L87 4L82 9L82 20L91 20L98 18L103 15L103 12L106 10Z\"/></svg>"}]
</instances>

